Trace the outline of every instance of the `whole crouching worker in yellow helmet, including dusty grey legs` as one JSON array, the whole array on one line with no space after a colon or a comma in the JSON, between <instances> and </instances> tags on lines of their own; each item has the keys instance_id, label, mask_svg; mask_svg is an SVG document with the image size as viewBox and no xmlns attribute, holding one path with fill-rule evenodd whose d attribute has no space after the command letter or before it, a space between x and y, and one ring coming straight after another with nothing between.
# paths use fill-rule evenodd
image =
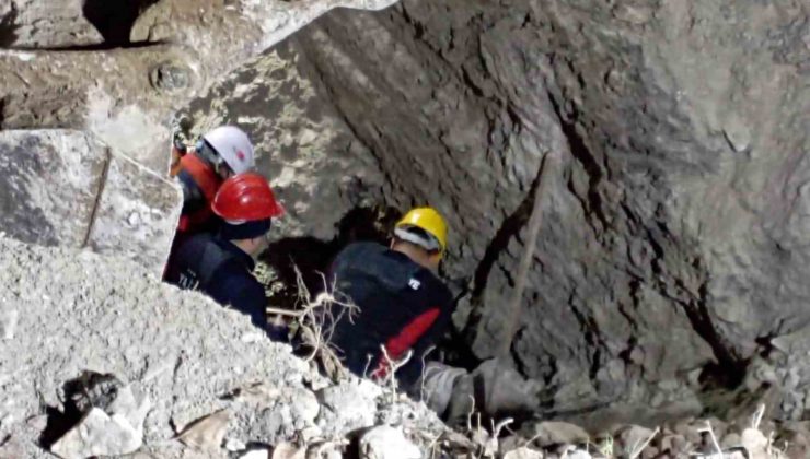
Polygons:
<instances>
[{"instance_id":1,"label":"whole crouching worker in yellow helmet, including dusty grey legs","mask_svg":"<svg viewBox=\"0 0 810 459\"><path fill-rule=\"evenodd\" d=\"M396 369L398 385L449 424L463 422L473 408L491 417L531 415L539 405L539 388L508 362L493 358L467 372L425 361L448 329L454 307L437 276L447 234L444 219L435 209L418 208L396 223L389 248L355 243L338 254L332 267L335 295L360 310L350 320L345 314L337 319L333 348L349 370L377 379L386 377L389 361L401 361L410 351ZM339 313L333 310L332 316Z\"/></svg>"}]
</instances>

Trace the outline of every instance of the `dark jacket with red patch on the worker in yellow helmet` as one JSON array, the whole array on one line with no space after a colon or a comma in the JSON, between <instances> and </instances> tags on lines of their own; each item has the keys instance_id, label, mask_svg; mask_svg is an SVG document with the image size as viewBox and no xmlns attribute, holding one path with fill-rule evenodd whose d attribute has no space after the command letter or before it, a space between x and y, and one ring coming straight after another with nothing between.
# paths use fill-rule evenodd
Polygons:
<instances>
[{"instance_id":1,"label":"dark jacket with red patch on the worker in yellow helmet","mask_svg":"<svg viewBox=\"0 0 810 459\"><path fill-rule=\"evenodd\" d=\"M409 388L421 375L424 354L450 323L452 296L428 269L406 255L373 243L347 246L332 264L338 299L349 298L360 311L352 321L339 306L332 343L344 364L359 376L384 376L389 368L381 345L392 360L413 351L396 378Z\"/></svg>"}]
</instances>

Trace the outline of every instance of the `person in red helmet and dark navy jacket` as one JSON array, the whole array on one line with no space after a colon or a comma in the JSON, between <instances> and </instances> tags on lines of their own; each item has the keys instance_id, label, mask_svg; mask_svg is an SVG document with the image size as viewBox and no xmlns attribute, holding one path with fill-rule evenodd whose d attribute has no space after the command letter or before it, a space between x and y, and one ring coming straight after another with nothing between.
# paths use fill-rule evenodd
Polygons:
<instances>
[{"instance_id":1,"label":"person in red helmet and dark navy jacket","mask_svg":"<svg viewBox=\"0 0 810 459\"><path fill-rule=\"evenodd\" d=\"M219 233L184 240L169 264L166 282L204 292L269 331L264 287L252 271L255 258L267 248L273 219L281 216L284 209L267 180L254 173L225 180L211 208L223 221Z\"/></svg>"}]
</instances>

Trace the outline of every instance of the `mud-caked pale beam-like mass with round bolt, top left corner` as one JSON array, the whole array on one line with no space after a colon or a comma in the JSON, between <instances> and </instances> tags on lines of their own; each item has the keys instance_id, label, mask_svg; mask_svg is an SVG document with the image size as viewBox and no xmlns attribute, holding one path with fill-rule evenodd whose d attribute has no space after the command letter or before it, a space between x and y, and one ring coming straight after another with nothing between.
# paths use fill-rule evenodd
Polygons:
<instances>
[{"instance_id":1,"label":"mud-caked pale beam-like mass with round bolt, top left corner","mask_svg":"<svg viewBox=\"0 0 810 459\"><path fill-rule=\"evenodd\" d=\"M4 1L0 127L83 129L165 174L178 106L334 8L394 1Z\"/></svg>"}]
</instances>

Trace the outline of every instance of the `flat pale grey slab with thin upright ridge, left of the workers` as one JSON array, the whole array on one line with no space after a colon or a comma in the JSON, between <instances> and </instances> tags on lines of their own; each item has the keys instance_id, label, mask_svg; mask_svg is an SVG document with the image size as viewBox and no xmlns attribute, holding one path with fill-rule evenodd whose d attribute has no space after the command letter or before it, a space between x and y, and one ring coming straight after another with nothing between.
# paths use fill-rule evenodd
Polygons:
<instances>
[{"instance_id":1,"label":"flat pale grey slab with thin upright ridge, left of the workers","mask_svg":"<svg viewBox=\"0 0 810 459\"><path fill-rule=\"evenodd\" d=\"M180 216L173 183L72 130L0 133L0 231L131 257L160 274Z\"/></svg>"}]
</instances>

